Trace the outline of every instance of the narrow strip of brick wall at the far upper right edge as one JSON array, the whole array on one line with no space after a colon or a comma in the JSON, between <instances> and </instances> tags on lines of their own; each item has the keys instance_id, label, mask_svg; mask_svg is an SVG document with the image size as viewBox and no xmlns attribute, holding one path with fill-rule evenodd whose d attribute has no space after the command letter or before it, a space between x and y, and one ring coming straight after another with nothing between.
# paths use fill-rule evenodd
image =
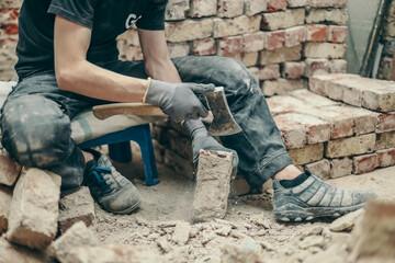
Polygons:
<instances>
[{"instance_id":1,"label":"narrow strip of brick wall at the far upper right edge","mask_svg":"<svg viewBox=\"0 0 395 263\"><path fill-rule=\"evenodd\" d=\"M384 44L384 49L377 78L390 80L395 48L395 0L392 0L391 8L387 10L381 42Z\"/></svg>"}]
</instances>

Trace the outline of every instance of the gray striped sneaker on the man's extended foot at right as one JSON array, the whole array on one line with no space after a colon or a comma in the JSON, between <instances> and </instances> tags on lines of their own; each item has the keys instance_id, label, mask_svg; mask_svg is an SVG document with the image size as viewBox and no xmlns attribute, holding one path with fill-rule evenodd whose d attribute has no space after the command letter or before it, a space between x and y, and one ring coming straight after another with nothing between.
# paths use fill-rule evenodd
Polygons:
<instances>
[{"instance_id":1,"label":"gray striped sneaker on the man's extended foot at right","mask_svg":"<svg viewBox=\"0 0 395 263\"><path fill-rule=\"evenodd\" d=\"M283 187L273 180L273 210L281 221L304 221L319 217L336 218L360 209L370 198L376 198L373 191L347 191L327 184L309 171L307 179L294 187Z\"/></svg>"}]
</instances>

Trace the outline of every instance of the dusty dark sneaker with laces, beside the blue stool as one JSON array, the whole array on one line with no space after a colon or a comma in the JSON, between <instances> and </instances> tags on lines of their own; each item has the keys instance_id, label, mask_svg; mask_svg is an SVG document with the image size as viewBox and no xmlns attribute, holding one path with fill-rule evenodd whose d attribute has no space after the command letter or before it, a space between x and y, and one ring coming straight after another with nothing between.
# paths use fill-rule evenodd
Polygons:
<instances>
[{"instance_id":1,"label":"dusty dark sneaker with laces, beside the blue stool","mask_svg":"<svg viewBox=\"0 0 395 263\"><path fill-rule=\"evenodd\" d=\"M93 155L87 163L83 184L89 186L99 205L114 214L128 214L140 203L137 188L131 181L115 170L109 158L94 150L84 150Z\"/></svg>"}]
</instances>

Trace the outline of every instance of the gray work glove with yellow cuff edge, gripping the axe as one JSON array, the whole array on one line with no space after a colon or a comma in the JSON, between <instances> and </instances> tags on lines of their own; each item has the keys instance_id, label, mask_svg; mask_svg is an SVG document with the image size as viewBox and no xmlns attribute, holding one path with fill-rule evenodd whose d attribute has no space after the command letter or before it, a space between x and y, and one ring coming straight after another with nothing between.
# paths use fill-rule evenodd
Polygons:
<instances>
[{"instance_id":1,"label":"gray work glove with yellow cuff edge, gripping the axe","mask_svg":"<svg viewBox=\"0 0 395 263\"><path fill-rule=\"evenodd\" d=\"M198 119L206 117L208 110L202 105L195 94L205 94L214 89L214 84L168 83L151 80L145 102L159 106L176 123Z\"/></svg>"}]
</instances>

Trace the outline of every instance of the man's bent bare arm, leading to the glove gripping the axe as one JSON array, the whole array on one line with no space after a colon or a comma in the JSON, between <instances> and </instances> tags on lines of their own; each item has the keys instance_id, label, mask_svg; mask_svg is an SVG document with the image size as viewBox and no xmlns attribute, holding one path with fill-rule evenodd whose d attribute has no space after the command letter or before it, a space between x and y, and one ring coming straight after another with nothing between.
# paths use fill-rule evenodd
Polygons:
<instances>
[{"instance_id":1,"label":"man's bent bare arm, leading to the glove gripping the axe","mask_svg":"<svg viewBox=\"0 0 395 263\"><path fill-rule=\"evenodd\" d=\"M142 102L147 80L87 61L91 31L61 16L55 20L55 71L59 89L114 102Z\"/></svg>"}]
</instances>

